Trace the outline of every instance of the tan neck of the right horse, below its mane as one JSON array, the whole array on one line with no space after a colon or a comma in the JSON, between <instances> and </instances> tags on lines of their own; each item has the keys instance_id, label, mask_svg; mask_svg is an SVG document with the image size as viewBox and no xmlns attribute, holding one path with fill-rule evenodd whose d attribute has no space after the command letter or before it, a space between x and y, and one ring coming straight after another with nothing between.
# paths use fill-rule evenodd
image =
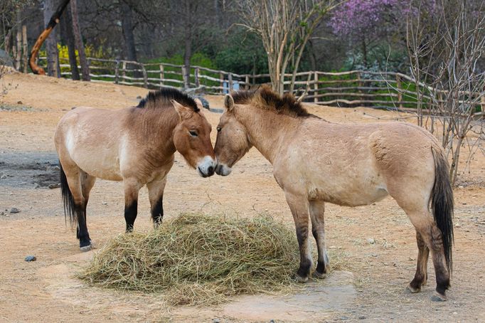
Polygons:
<instances>
[{"instance_id":1,"label":"tan neck of the right horse, below its mane","mask_svg":"<svg viewBox=\"0 0 485 323\"><path fill-rule=\"evenodd\" d=\"M285 139L291 137L302 123L299 118L277 115L249 105L239 107L236 115L246 127L252 146L271 164L275 162L280 149L286 147Z\"/></svg>"}]
</instances>

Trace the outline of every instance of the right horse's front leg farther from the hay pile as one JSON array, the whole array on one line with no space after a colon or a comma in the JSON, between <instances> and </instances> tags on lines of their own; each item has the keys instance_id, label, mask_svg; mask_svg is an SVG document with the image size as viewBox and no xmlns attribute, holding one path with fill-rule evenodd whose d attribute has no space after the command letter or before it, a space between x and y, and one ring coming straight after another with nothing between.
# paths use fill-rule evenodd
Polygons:
<instances>
[{"instance_id":1,"label":"right horse's front leg farther from the hay pile","mask_svg":"<svg viewBox=\"0 0 485 323\"><path fill-rule=\"evenodd\" d=\"M309 211L311 218L311 233L316 240L316 248L319 253L318 263L314 276L318 278L326 277L327 267L329 265L329 256L325 248L325 202L309 201Z\"/></svg>"}]
</instances>

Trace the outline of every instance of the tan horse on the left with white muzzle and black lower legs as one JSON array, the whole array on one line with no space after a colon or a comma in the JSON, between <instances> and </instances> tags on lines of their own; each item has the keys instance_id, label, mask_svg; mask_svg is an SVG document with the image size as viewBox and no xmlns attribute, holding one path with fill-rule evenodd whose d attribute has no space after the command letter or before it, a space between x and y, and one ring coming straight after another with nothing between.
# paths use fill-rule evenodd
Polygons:
<instances>
[{"instance_id":1,"label":"tan horse on the left with white muzzle and black lower legs","mask_svg":"<svg viewBox=\"0 0 485 323\"><path fill-rule=\"evenodd\" d=\"M90 250L86 206L95 179L123 181L126 231L137 218L138 191L146 184L155 225L164 215L166 174L177 150L203 177L215 157L201 102L169 88L150 92L137 107L101 110L78 107L55 130L65 213L77 221L82 251Z\"/></svg>"}]
</instances>

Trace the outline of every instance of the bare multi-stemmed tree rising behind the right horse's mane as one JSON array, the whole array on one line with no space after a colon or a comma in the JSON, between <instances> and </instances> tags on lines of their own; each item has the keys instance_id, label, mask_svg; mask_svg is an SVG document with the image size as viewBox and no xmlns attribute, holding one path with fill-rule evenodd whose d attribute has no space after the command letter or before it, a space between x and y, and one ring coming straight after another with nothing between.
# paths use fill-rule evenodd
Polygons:
<instances>
[{"instance_id":1,"label":"bare multi-stemmed tree rising behind the right horse's mane","mask_svg":"<svg viewBox=\"0 0 485 323\"><path fill-rule=\"evenodd\" d=\"M267 52L272 88L284 92L284 74L292 65L294 81L305 46L324 16L341 4L337 0L247 0L238 3L241 26L257 33Z\"/></svg>"}]
</instances>

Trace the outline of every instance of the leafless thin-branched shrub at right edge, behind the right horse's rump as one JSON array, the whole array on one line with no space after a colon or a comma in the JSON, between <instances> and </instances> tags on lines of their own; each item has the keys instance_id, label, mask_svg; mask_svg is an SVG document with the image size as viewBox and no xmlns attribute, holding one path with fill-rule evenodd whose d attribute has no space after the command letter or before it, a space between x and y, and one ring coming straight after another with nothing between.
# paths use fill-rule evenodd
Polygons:
<instances>
[{"instance_id":1,"label":"leafless thin-branched shrub at right edge, behind the right horse's rump","mask_svg":"<svg viewBox=\"0 0 485 323\"><path fill-rule=\"evenodd\" d=\"M414 6L413 6L414 5ZM463 147L469 158L484 148L485 6L481 1L415 1L407 17L407 48L417 92L418 125L438 132L459 174ZM436 129L437 128L437 129Z\"/></svg>"}]
</instances>

